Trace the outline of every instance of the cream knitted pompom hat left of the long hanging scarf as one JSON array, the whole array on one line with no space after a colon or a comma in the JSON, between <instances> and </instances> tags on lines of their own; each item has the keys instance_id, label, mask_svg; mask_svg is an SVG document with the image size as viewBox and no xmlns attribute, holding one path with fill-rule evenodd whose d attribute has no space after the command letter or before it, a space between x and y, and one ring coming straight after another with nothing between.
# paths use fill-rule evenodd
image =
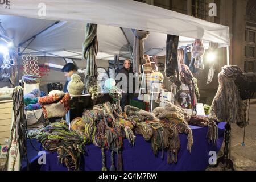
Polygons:
<instances>
[{"instance_id":1,"label":"cream knitted pompom hat left of the long hanging scarf","mask_svg":"<svg viewBox=\"0 0 256 182\"><path fill-rule=\"evenodd\" d=\"M71 76L71 81L68 82L68 92L72 95L81 95L84 91L84 82L77 74Z\"/></svg>"}]
</instances>

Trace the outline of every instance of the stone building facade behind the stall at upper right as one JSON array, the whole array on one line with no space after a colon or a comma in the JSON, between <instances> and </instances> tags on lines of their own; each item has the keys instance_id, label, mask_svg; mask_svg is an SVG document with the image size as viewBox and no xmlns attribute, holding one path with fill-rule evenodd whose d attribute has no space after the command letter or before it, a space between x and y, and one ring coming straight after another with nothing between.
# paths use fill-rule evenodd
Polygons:
<instances>
[{"instance_id":1,"label":"stone building facade behind the stall at upper right","mask_svg":"<svg viewBox=\"0 0 256 182\"><path fill-rule=\"evenodd\" d=\"M256 0L138 0L179 13L195 16L230 28L230 64L238 65L251 80L256 81ZM209 3L216 3L217 16L209 16ZM226 48L218 50L216 72L212 83L207 83L209 65L194 75L198 80L201 102L211 104L218 88L217 74L227 64Z\"/></svg>"}]
</instances>

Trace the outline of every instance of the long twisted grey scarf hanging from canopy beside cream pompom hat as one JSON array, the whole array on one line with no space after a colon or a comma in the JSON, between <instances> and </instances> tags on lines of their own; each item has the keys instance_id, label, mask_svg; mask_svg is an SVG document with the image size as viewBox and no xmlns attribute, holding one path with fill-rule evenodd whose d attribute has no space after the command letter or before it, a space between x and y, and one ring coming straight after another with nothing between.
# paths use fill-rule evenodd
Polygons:
<instances>
[{"instance_id":1,"label":"long twisted grey scarf hanging from canopy beside cream pompom hat","mask_svg":"<svg viewBox=\"0 0 256 182\"><path fill-rule=\"evenodd\" d=\"M92 95L92 100L101 97L102 94L98 93L97 85L97 65L96 56L98 53L98 40L97 40L97 24L86 24L85 40L82 44L82 53L87 61L86 76L85 76L85 91Z\"/></svg>"}]
</instances>

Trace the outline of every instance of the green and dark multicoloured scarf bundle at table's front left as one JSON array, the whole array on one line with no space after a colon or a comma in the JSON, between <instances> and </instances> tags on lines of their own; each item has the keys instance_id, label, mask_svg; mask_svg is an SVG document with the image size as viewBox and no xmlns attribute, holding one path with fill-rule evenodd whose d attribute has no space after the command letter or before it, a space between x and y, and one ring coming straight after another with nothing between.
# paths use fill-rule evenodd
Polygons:
<instances>
[{"instance_id":1,"label":"green and dark multicoloured scarf bundle at table's front left","mask_svg":"<svg viewBox=\"0 0 256 182\"><path fill-rule=\"evenodd\" d=\"M79 170L80 156L85 152L83 146L89 143L84 135L69 131L66 123L51 123L37 139L44 150L57 152L59 163L69 170Z\"/></svg>"}]
</instances>

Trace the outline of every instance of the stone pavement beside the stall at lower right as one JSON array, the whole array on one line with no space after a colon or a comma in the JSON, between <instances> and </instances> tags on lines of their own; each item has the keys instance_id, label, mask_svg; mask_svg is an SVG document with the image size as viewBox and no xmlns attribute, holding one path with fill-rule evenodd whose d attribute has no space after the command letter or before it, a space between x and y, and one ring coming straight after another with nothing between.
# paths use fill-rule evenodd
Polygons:
<instances>
[{"instance_id":1,"label":"stone pavement beside the stall at lower right","mask_svg":"<svg viewBox=\"0 0 256 182\"><path fill-rule=\"evenodd\" d=\"M232 123L231 130L231 159L237 171L256 171L256 102L250 105L249 125L245 129L245 146L243 129ZM224 144L218 155L223 154ZM207 171L225 170L222 164L216 168L207 168Z\"/></svg>"}]
</instances>

